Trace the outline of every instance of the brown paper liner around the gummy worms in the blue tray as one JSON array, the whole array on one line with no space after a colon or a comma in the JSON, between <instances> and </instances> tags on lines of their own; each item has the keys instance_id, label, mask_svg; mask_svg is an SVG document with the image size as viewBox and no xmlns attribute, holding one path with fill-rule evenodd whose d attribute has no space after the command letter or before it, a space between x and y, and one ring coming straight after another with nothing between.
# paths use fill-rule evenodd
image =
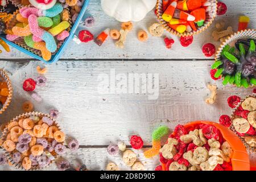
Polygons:
<instances>
[{"instance_id":1,"label":"brown paper liner around the gummy worms in the blue tray","mask_svg":"<svg viewBox=\"0 0 256 182\"><path fill-rule=\"evenodd\" d=\"M32 5L22 6L22 7L32 7ZM20 8L22 8L22 7L20 6ZM69 13L69 9L66 9L66 10L67 10L68 13ZM6 25L7 29L11 30L17 23L19 23L18 20L16 20L16 14L18 14L18 13L19 13L19 10L16 10L15 13L14 13L14 15L13 15L13 18L11 18L11 19L9 20L9 22L7 23L7 25ZM69 26L69 28L67 29L67 31L70 32L70 31L71 31L71 28L72 28L72 20L71 20L70 13L69 13L68 22L69 22L69 24L71 24L71 26ZM59 49L60 49L60 47L62 46L62 44L64 43L64 41L65 41L65 40L56 41L56 43L57 43L57 49L56 49L55 52L52 52L52 55L55 55L55 54L59 51ZM24 39L23 39L23 38L18 38L18 39L16 39L16 40L14 40L13 42L14 42L15 44L17 44L18 46L20 46L20 47L26 49L27 51L30 51L30 52L34 53L35 55L38 55L38 56L42 57L41 51L39 51L38 49L34 49L34 48L31 48L31 47L27 46L27 44L24 42Z\"/></svg>"}]
</instances>

